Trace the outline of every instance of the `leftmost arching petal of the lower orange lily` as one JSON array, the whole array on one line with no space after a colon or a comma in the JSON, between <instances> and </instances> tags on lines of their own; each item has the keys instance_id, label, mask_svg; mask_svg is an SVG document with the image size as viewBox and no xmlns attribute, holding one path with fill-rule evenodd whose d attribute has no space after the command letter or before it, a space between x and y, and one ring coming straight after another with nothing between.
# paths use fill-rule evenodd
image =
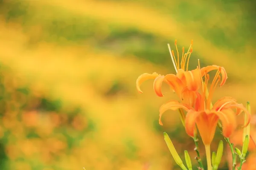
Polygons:
<instances>
[{"instance_id":1,"label":"leftmost arching petal of the lower orange lily","mask_svg":"<svg viewBox=\"0 0 256 170\"><path fill-rule=\"evenodd\" d=\"M176 111L179 108L183 108L185 111L189 111L190 109L192 109L192 107L190 107L189 105L182 104L177 100L170 100L169 102L166 102L165 104L163 104L159 109L159 124L163 125L161 121L161 117L165 111L167 110Z\"/></svg>"}]
</instances>

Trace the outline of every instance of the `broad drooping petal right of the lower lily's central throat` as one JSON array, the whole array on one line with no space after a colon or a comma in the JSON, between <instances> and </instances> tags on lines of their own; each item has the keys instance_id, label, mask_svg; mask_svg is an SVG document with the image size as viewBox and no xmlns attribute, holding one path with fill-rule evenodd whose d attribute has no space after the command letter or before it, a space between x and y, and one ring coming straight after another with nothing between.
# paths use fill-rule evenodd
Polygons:
<instances>
[{"instance_id":1,"label":"broad drooping petal right of the lower lily's central throat","mask_svg":"<svg viewBox=\"0 0 256 170\"><path fill-rule=\"evenodd\" d=\"M223 136L229 137L236 128L236 117L231 109L223 109L222 111L215 112L222 123Z\"/></svg>"}]
</instances>

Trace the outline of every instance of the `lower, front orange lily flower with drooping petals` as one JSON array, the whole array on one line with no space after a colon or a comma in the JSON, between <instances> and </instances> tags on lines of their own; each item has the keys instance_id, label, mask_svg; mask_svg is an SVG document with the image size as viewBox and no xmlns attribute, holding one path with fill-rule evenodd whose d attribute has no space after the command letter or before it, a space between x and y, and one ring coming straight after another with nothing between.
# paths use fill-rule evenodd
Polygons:
<instances>
[{"instance_id":1,"label":"lower, front orange lily flower with drooping petals","mask_svg":"<svg viewBox=\"0 0 256 170\"><path fill-rule=\"evenodd\" d=\"M177 110L183 108L187 111L185 119L185 129L189 136L194 136L196 130L195 125L197 125L199 133L201 135L202 141L205 145L209 145L212 142L213 136L215 134L215 129L218 120L221 120L223 129L222 133L225 137L229 137L236 128L236 118L235 115L239 115L244 111L247 116L247 125L250 122L250 114L247 112L246 108L242 104L238 104L235 99L231 97L223 97L219 99L211 108L212 94L216 88L216 85L220 81L219 74L221 73L221 68L215 74L215 77L210 85L209 96L207 93L207 84L209 81L209 74L205 74L205 82L201 79L201 89L202 93L197 93L197 98L195 102L195 107L180 103L175 100L171 100L160 107L160 118L161 122L162 114L168 110ZM236 114L234 114L233 108L236 108Z\"/></svg>"}]
</instances>

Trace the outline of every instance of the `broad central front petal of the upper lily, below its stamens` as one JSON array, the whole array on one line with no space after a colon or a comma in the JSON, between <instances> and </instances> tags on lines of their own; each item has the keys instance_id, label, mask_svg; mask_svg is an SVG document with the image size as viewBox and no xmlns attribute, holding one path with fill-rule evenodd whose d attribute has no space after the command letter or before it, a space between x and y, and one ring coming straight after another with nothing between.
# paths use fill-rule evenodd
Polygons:
<instances>
[{"instance_id":1,"label":"broad central front petal of the upper lily, below its stamens","mask_svg":"<svg viewBox=\"0 0 256 170\"><path fill-rule=\"evenodd\" d=\"M200 70L196 68L192 71L178 70L177 77L180 78L189 90L197 91L202 83Z\"/></svg>"}]
</instances>

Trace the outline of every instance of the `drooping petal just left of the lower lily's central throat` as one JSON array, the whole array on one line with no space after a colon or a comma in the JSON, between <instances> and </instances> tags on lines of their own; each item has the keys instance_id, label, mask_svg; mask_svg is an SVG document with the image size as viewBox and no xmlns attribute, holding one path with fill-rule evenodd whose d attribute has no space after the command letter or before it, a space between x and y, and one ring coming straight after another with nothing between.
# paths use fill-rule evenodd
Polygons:
<instances>
[{"instance_id":1,"label":"drooping petal just left of the lower lily's central throat","mask_svg":"<svg viewBox=\"0 0 256 170\"><path fill-rule=\"evenodd\" d=\"M186 114L185 130L189 136L192 136L192 137L195 136L195 134L194 134L195 122L196 122L196 119L198 118L198 116L203 112L204 111L198 112L198 111L189 110L188 113Z\"/></svg>"}]
</instances>

